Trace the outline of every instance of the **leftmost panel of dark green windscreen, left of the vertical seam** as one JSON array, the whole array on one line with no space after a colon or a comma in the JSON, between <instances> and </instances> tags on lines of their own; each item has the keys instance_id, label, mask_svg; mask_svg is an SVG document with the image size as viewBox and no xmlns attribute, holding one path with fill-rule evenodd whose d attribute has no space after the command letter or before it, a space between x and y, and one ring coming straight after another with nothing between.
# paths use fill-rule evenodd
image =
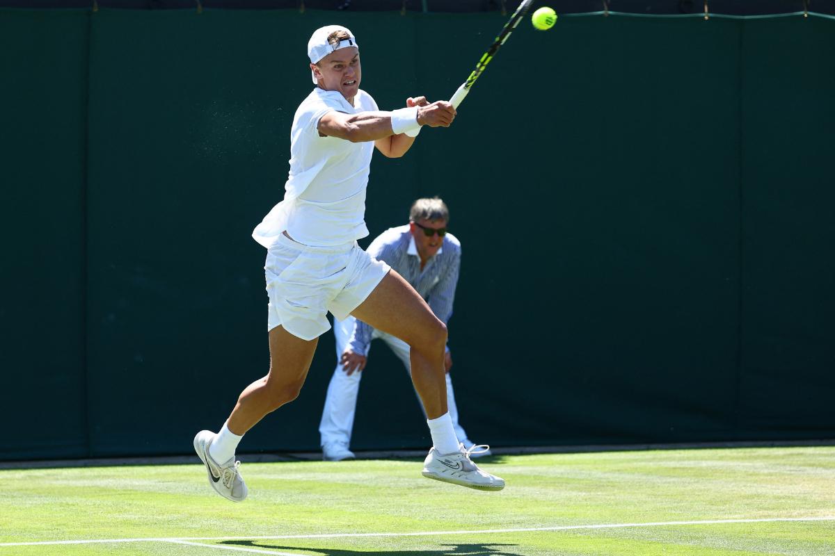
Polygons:
<instances>
[{"instance_id":1,"label":"leftmost panel of dark green windscreen, left of the vertical seam","mask_svg":"<svg viewBox=\"0 0 835 556\"><path fill-rule=\"evenodd\" d=\"M0 458L89 453L89 18L0 10Z\"/></svg>"}]
</instances>

